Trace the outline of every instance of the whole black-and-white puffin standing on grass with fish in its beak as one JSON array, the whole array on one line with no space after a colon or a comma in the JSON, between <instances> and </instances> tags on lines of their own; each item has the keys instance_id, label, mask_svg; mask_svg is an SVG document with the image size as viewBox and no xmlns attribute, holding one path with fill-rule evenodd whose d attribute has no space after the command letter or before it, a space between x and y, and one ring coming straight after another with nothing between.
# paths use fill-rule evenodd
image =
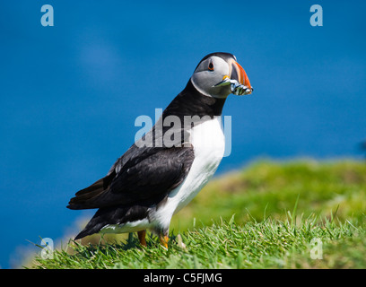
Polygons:
<instances>
[{"instance_id":1,"label":"whole black-and-white puffin standing on grass with fish in its beak","mask_svg":"<svg viewBox=\"0 0 366 287\"><path fill-rule=\"evenodd\" d=\"M98 232L137 232L146 247L146 230L151 230L168 248L171 217L205 187L222 161L225 100L231 93L242 96L252 91L234 55L205 56L151 130L104 178L70 199L69 209L98 209L74 239Z\"/></svg>"}]
</instances>

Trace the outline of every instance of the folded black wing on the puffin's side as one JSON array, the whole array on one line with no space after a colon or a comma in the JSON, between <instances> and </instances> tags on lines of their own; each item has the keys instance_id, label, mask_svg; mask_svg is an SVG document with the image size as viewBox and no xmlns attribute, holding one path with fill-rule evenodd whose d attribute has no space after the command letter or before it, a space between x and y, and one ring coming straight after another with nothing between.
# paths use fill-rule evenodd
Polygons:
<instances>
[{"instance_id":1,"label":"folded black wing on the puffin's side","mask_svg":"<svg viewBox=\"0 0 366 287\"><path fill-rule=\"evenodd\" d=\"M67 207L158 204L186 178L193 160L193 147L138 148L133 145L105 178L78 191Z\"/></svg>"}]
</instances>

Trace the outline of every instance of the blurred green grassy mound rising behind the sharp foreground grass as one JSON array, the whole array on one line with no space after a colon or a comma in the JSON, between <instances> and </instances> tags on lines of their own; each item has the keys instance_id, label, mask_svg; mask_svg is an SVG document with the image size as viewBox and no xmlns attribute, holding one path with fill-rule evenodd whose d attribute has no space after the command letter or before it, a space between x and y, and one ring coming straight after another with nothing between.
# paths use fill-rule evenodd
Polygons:
<instances>
[{"instance_id":1,"label":"blurred green grassy mound rising behind the sharp foreground grass","mask_svg":"<svg viewBox=\"0 0 366 287\"><path fill-rule=\"evenodd\" d=\"M257 221L264 215L284 220L297 198L298 213L330 218L337 210L341 221L360 219L366 211L365 161L256 161L243 170L212 180L201 193L173 217L176 230L210 224L214 214L247 222L248 213Z\"/></svg>"}]
</instances>

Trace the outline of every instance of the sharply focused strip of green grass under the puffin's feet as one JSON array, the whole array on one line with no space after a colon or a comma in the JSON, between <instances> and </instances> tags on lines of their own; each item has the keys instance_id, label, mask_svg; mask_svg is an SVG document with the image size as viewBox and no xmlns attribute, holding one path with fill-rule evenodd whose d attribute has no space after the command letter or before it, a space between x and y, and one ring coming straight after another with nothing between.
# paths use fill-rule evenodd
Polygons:
<instances>
[{"instance_id":1,"label":"sharply focused strip of green grass under the puffin's feet","mask_svg":"<svg viewBox=\"0 0 366 287\"><path fill-rule=\"evenodd\" d=\"M126 243L69 243L53 259L35 259L35 268L364 268L366 230L350 222L316 223L310 217L264 222L216 222L171 235L169 248L154 238L148 247ZM312 240L322 242L322 259L311 257ZM182 245L184 244L184 246ZM317 249L318 250L318 249ZM72 251L72 254L70 254ZM318 253L316 253L318 254Z\"/></svg>"}]
</instances>

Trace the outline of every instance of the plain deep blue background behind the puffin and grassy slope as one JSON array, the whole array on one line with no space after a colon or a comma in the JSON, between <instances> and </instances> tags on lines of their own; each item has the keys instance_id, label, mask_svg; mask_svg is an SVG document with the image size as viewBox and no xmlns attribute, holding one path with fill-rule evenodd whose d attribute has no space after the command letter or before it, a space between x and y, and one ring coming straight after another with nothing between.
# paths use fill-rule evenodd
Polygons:
<instances>
[{"instance_id":1,"label":"plain deep blue background behind the puffin and grassy slope","mask_svg":"<svg viewBox=\"0 0 366 287\"><path fill-rule=\"evenodd\" d=\"M40 24L43 4L54 27ZM312 4L323 27L309 24ZM219 173L258 157L361 159L365 11L364 1L3 1L1 267L19 263L26 240L60 239L92 215L65 205L211 52L236 55L255 88L225 104L232 149Z\"/></svg>"}]
</instances>

